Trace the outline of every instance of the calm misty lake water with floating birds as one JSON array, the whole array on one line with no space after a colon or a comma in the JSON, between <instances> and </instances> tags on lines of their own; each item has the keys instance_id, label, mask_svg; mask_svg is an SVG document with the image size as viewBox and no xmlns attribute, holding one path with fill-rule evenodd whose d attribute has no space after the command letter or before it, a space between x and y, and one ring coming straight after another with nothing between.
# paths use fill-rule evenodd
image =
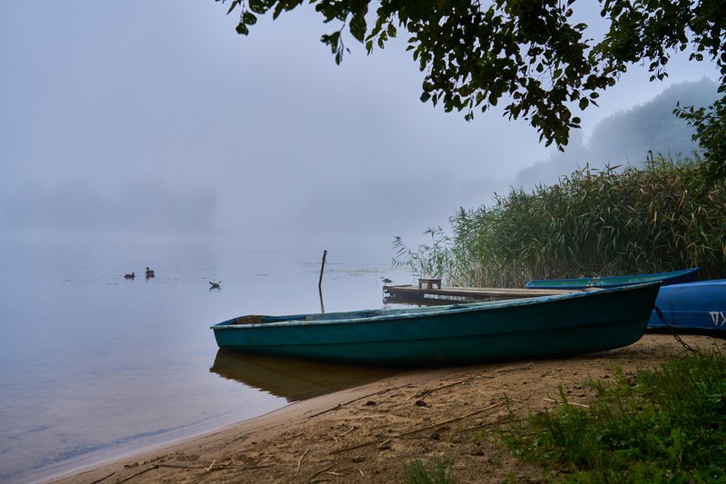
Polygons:
<instances>
[{"instance_id":1,"label":"calm misty lake water with floating birds","mask_svg":"<svg viewBox=\"0 0 726 484\"><path fill-rule=\"evenodd\" d=\"M0 243L0 482L47 479L392 374L241 357L218 351L210 330L247 313L383 307L389 258L330 252L321 301L322 250Z\"/></svg>"}]
</instances>

